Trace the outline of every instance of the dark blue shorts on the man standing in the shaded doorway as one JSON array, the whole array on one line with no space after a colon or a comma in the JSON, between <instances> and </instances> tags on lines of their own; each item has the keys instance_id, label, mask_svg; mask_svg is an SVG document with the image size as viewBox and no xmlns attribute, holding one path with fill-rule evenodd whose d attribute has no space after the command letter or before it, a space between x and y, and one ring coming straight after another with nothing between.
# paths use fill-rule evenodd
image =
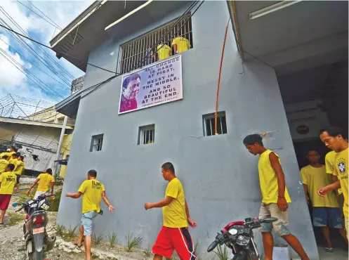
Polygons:
<instances>
[{"instance_id":1,"label":"dark blue shorts on the man standing in the shaded doorway","mask_svg":"<svg viewBox=\"0 0 349 260\"><path fill-rule=\"evenodd\" d=\"M343 228L341 209L339 209L338 207L313 207L312 222L314 226Z\"/></svg>"}]
</instances>

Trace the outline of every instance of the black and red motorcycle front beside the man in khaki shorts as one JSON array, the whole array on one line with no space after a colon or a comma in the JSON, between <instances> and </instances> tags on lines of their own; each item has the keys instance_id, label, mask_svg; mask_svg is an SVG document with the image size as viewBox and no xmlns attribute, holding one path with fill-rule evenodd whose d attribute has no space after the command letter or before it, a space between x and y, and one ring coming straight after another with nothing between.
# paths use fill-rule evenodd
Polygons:
<instances>
[{"instance_id":1,"label":"black and red motorcycle front beside the man in khaki shorts","mask_svg":"<svg viewBox=\"0 0 349 260\"><path fill-rule=\"evenodd\" d=\"M216 235L216 240L209 245L207 252L211 252L217 245L226 245L232 249L232 260L258 260L260 256L253 240L253 229L260 228L262 223L275 221L276 218L248 218L245 221L229 223Z\"/></svg>"}]
</instances>

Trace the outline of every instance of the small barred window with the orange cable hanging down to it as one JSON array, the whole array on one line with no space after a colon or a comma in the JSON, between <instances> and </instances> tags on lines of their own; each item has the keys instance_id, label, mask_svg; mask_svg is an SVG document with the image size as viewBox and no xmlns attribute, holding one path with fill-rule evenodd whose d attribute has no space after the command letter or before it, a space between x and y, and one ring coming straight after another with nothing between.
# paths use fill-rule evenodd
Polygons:
<instances>
[{"instance_id":1,"label":"small barred window with the orange cable hanging down to it","mask_svg":"<svg viewBox=\"0 0 349 260\"><path fill-rule=\"evenodd\" d=\"M204 126L204 136L215 135L215 117L214 113L202 116L202 123ZM227 134L227 122L225 120L225 112L218 112L217 114L217 134Z\"/></svg>"}]
</instances>

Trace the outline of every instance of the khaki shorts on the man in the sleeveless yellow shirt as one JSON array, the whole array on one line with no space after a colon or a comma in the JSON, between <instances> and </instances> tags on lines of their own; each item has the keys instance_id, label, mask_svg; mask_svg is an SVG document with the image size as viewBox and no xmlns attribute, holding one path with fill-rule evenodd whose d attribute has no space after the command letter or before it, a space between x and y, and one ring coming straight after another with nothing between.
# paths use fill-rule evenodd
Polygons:
<instances>
[{"instance_id":1,"label":"khaki shorts on the man in the sleeveless yellow shirt","mask_svg":"<svg viewBox=\"0 0 349 260\"><path fill-rule=\"evenodd\" d=\"M262 233L271 233L272 229L275 230L275 233L282 237L283 235L289 235L289 214L282 212L276 203L264 204L261 205L261 210L259 212L259 219L266 218L277 218L277 221L273 223L263 223L261 226Z\"/></svg>"}]
</instances>

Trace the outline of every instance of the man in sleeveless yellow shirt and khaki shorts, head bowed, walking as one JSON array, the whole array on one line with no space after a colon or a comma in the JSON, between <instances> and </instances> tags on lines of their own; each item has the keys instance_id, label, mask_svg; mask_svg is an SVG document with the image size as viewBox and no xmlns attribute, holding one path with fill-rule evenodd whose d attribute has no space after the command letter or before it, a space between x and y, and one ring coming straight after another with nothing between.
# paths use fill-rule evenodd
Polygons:
<instances>
[{"instance_id":1,"label":"man in sleeveless yellow shirt and khaki shorts, head bowed, walking","mask_svg":"<svg viewBox=\"0 0 349 260\"><path fill-rule=\"evenodd\" d=\"M272 228L274 228L277 235L282 237L301 256L302 260L309 260L301 242L289 231L287 209L291 198L286 188L284 171L282 171L279 156L275 152L264 148L262 137L258 134L246 136L243 143L251 154L260 155L258 173L263 200L259 218L266 219L272 217L278 219L272 224L263 223L261 226L265 260L272 260L274 247Z\"/></svg>"}]
</instances>

